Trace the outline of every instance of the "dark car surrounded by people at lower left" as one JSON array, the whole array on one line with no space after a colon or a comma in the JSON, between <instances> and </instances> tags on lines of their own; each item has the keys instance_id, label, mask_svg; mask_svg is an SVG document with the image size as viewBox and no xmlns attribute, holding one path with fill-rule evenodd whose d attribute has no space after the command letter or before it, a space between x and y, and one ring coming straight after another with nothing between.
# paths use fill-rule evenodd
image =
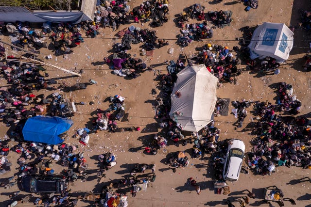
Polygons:
<instances>
[{"instance_id":1,"label":"dark car surrounded by people at lower left","mask_svg":"<svg viewBox=\"0 0 311 207\"><path fill-rule=\"evenodd\" d=\"M68 182L63 175L26 175L21 180L21 189L37 193L65 193Z\"/></svg>"}]
</instances>

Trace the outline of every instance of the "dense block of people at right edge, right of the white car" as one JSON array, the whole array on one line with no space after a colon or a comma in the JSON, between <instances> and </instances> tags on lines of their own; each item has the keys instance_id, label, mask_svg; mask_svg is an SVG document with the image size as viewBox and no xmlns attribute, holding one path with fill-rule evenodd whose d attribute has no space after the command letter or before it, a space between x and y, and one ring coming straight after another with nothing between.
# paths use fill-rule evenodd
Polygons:
<instances>
[{"instance_id":1,"label":"dense block of people at right edge, right of the white car","mask_svg":"<svg viewBox=\"0 0 311 207\"><path fill-rule=\"evenodd\" d=\"M259 120L253 129L258 138L249 155L249 166L261 175L271 174L275 166L311 168L308 124L306 117Z\"/></svg>"}]
</instances>

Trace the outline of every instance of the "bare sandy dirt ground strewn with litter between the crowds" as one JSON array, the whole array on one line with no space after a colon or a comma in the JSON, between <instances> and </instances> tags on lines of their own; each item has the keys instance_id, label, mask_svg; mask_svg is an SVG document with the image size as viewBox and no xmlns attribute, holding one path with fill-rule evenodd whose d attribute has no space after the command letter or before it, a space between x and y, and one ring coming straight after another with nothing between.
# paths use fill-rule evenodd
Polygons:
<instances>
[{"instance_id":1,"label":"bare sandy dirt ground strewn with litter between the crowds","mask_svg":"<svg viewBox=\"0 0 311 207\"><path fill-rule=\"evenodd\" d=\"M214 1L203 0L171 0L169 4L169 22L165 23L162 27L155 28L156 35L159 38L167 38L170 45L160 49L155 49L154 56L147 58L141 56L148 64L161 64L165 60L176 60L181 52L187 54L195 53L195 47L203 46L203 44L221 44L232 48L237 46L238 42L234 41L236 37L241 37L242 33L239 31L244 26L254 26L263 22L276 22L285 23L289 25L297 25L299 21L298 9L307 8L308 0L260 0L258 9L251 9L250 11L244 11L245 6L241 3L234 3L233 0L224 0L222 3L216 3ZM132 0L131 6L138 6L141 3L140 0ZM178 15L186 7L194 3L201 3L206 7L207 11L219 11L219 10L231 10L233 12L233 22L230 27L224 29L214 30L214 36L210 40L204 40L203 42L193 42L189 47L181 49L175 44L176 35L179 34L179 28L176 27L173 19L175 15ZM148 24L133 24L141 28L148 28ZM124 28L130 25L121 25ZM96 174L92 174L89 177L89 181L81 183L80 180L71 183L70 188L72 192L86 192L94 191L98 192L101 188L110 181L120 180L124 175L128 175L130 168L133 167L133 163L148 163L156 164L156 180L150 185L146 192L139 192L135 198L129 196L129 207L203 207L212 206L220 207L226 206L224 199L230 200L238 199L242 196L242 190L248 189L256 194L256 199L250 200L250 206L258 206L258 201L263 198L263 188L276 185L281 188L285 194L285 197L291 197L296 200L297 207L311 206L311 184L308 182L290 185L289 181L299 179L304 176L310 176L310 170L303 170L301 168L291 167L277 167L276 173L272 175L260 176L252 175L252 173L246 175L241 174L238 182L230 183L231 193L229 195L214 194L212 172L208 167L208 161L199 159L191 159L190 165L184 169L177 169L174 174L172 170L168 169L168 166L163 164L161 160L166 158L166 154L169 152L175 152L178 150L190 149L191 145L187 146L175 146L172 143L166 148L167 151L159 151L155 156L145 155L143 150L137 152L130 152L130 148L136 148L143 146L145 143L150 143L152 137L157 132L157 123L155 122L155 111L150 103L156 98L151 95L151 89L156 88L157 81L154 72L144 72L140 77L134 80L125 80L119 76L113 75L111 70L106 64L93 65L95 62L103 61L105 56L111 53L108 50L116 42L120 42L120 39L115 39L115 32L111 32L110 29L102 29L101 34L95 39L85 39L85 43L74 48L74 54L70 54L67 59L63 56L58 56L57 61L55 56L51 60L46 62L59 65L61 67L79 71L84 69L85 73L81 78L81 82L87 82L88 79L98 81L98 85L87 86L86 90L79 90L69 93L62 93L65 97L71 98L75 102L89 102L94 101L95 104L79 105L78 112L72 117L74 121L73 127L69 130L69 135L73 135L75 130L79 127L89 126L90 120L94 117L90 115L91 112L97 108L106 109L108 107L107 102L103 100L108 96L121 95L124 96L126 109L129 114L128 122L118 123L119 127L131 127L139 126L140 131L135 132L118 132L109 133L101 131L99 133L90 134L90 142L86 146L82 146L78 143L78 140L69 138L66 143L72 143L79 145L79 151L84 151L89 169L97 169L96 160L92 159L93 156L101 153L111 151L117 155L117 166L106 172L107 177L103 183L97 184ZM1 36L2 38L2 36ZM4 37L5 39L6 37ZM110 39L112 38L112 39ZM286 64L281 65L281 73L279 75L262 75L260 73L252 73L251 71L242 71L242 74L237 77L236 84L225 83L222 88L217 90L217 96L222 98L230 98L231 100L269 100L275 103L276 94L271 88L271 85L280 81L291 83L294 86L294 94L299 100L302 101L302 108L300 114L307 114L310 117L311 112L311 77L310 72L304 72L302 70L303 60L302 57L305 52L309 50L309 42L307 34L301 29L295 31L294 49ZM168 54L168 49L174 48L173 55ZM128 51L131 54L139 56L139 45L133 45L132 50ZM52 54L49 50L42 50L42 54ZM92 64L93 63L93 64ZM240 66L241 69L245 68L245 65ZM166 73L166 66L157 66L155 69L159 70L162 74ZM70 74L64 73L60 70L49 69L51 78L57 78L59 81L65 80L69 84L74 84L78 79L76 77L70 77ZM5 80L1 80L1 86L6 85ZM157 90L158 92L158 90ZM40 91L37 94L45 93L51 94L49 91ZM232 106L230 105L229 111ZM250 109L249 109L250 111ZM246 151L250 151L250 139L248 131L243 130L248 123L251 122L252 114L248 114L243 124L243 127L235 130L233 123L236 119L232 114L228 116L216 117L215 125L222 130L220 134L221 139L227 138L239 138L246 144ZM255 118L255 117L253 117ZM6 134L7 127L3 123L0 124L0 137ZM12 146L14 143L11 143ZM0 178L9 177L17 173L15 167L17 167L18 155L14 152L10 152L8 159L13 163L12 171L1 175ZM55 167L55 171L59 173L61 167ZM201 185L202 193L197 195L194 189L187 183L187 179L193 177ZM94 179L91 179L94 178ZM0 206L10 203L8 198L9 192L17 191L17 187L14 186L11 189L0 189ZM37 195L35 195L37 196ZM91 203L79 201L79 207L91 206ZM274 204L277 205L277 204ZM31 203L23 204L23 206L33 206ZM236 203L236 206L239 206ZM264 204L262 206L268 206ZM291 206L289 202L285 202L285 206Z\"/></svg>"}]
</instances>

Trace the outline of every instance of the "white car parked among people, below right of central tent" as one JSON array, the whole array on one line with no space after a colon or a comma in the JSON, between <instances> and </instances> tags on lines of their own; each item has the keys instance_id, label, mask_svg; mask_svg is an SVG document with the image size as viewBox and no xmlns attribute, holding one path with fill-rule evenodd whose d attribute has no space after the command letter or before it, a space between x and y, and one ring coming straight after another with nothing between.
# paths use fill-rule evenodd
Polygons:
<instances>
[{"instance_id":1,"label":"white car parked among people, below right of central tent","mask_svg":"<svg viewBox=\"0 0 311 207\"><path fill-rule=\"evenodd\" d=\"M242 140L233 139L228 142L227 154L223 170L225 180L235 182L239 179L245 144Z\"/></svg>"}]
</instances>

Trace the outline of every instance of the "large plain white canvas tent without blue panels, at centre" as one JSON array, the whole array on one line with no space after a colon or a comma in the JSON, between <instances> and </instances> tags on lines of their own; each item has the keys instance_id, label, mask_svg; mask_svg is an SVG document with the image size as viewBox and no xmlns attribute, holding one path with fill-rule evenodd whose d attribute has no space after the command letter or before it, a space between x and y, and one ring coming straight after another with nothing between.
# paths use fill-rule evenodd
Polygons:
<instances>
[{"instance_id":1,"label":"large plain white canvas tent without blue panels, at centre","mask_svg":"<svg viewBox=\"0 0 311 207\"><path fill-rule=\"evenodd\" d=\"M170 116L182 130L197 132L213 120L217 82L204 64L188 65L177 74Z\"/></svg>"}]
</instances>

